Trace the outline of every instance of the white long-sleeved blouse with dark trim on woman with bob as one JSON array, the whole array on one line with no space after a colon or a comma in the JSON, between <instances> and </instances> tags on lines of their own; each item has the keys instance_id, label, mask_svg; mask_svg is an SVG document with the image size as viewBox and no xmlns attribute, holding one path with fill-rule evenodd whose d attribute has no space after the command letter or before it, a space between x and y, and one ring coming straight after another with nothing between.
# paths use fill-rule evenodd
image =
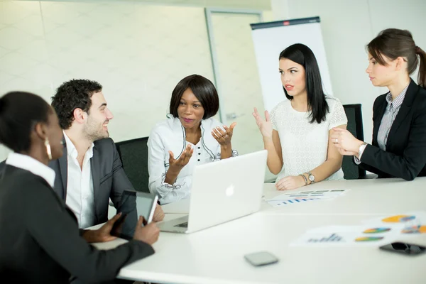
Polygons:
<instances>
[{"instance_id":1,"label":"white long-sleeved blouse with dark trim on woman with bob","mask_svg":"<svg viewBox=\"0 0 426 284\"><path fill-rule=\"evenodd\" d=\"M201 138L194 145L185 140L185 128L178 118L170 117L155 125L148 138L149 190L158 195L161 204L190 197L192 172L195 166L220 160L220 145L211 133L216 126L223 124L212 118L202 120ZM170 185L165 182L170 158L168 151L172 151L175 159L178 159L187 144L192 146L194 153L187 165L180 170L175 183ZM235 155L238 153L232 151L232 156Z\"/></svg>"}]
</instances>

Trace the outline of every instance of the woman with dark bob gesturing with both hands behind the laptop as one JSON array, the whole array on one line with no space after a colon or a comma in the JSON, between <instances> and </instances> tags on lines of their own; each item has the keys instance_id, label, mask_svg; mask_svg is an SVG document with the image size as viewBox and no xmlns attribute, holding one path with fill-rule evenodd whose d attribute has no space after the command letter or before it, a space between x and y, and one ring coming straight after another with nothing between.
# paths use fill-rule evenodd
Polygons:
<instances>
[{"instance_id":1,"label":"woman with dark bob gesturing with both hands behind the laptop","mask_svg":"<svg viewBox=\"0 0 426 284\"><path fill-rule=\"evenodd\" d=\"M176 85L168 119L148 138L149 190L161 204L190 197L196 165L238 155L231 147L236 123L213 119L218 110L217 90L207 78L190 75Z\"/></svg>"}]
</instances>

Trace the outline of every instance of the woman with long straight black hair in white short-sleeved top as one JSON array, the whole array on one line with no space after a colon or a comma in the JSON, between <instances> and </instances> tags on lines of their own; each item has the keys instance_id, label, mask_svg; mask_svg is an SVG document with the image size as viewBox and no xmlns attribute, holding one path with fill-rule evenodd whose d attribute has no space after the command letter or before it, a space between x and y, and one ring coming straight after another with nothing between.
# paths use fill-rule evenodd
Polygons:
<instances>
[{"instance_id":1,"label":"woman with long straight black hair in white short-sleeved top","mask_svg":"<svg viewBox=\"0 0 426 284\"><path fill-rule=\"evenodd\" d=\"M285 97L263 120L254 109L268 168L277 175L278 190L293 190L321 180L343 178L342 155L330 139L334 127L346 129L339 99L322 89L320 68L306 45L290 45L280 53L279 72Z\"/></svg>"}]
</instances>

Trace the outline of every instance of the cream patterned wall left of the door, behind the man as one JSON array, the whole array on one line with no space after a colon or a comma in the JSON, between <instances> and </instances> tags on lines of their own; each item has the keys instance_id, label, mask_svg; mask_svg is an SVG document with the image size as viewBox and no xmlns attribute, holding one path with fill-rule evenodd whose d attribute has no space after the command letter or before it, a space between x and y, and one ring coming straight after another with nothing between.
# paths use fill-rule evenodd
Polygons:
<instances>
[{"instance_id":1,"label":"cream patterned wall left of the door, behind the man","mask_svg":"<svg viewBox=\"0 0 426 284\"><path fill-rule=\"evenodd\" d=\"M200 74L214 81L204 6L270 6L268 0L141 2L0 0L0 95L23 90L50 102L62 82L97 80L115 116L111 137L148 136L165 119L179 80ZM0 160L7 153L0 146Z\"/></svg>"}]
</instances>

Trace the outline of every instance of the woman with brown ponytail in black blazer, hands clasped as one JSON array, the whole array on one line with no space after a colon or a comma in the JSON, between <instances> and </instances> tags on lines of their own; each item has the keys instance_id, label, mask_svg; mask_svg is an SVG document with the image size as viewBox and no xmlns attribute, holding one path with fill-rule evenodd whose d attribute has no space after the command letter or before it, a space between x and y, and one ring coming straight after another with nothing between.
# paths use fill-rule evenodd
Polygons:
<instances>
[{"instance_id":1,"label":"woman with brown ponytail in black blazer, hands clasped","mask_svg":"<svg viewBox=\"0 0 426 284\"><path fill-rule=\"evenodd\" d=\"M390 28L367 45L366 70L374 86L388 87L373 105L373 142L344 129L331 136L342 155L378 178L414 180L426 175L426 53L409 31ZM418 85L410 75L420 62Z\"/></svg>"}]
</instances>

